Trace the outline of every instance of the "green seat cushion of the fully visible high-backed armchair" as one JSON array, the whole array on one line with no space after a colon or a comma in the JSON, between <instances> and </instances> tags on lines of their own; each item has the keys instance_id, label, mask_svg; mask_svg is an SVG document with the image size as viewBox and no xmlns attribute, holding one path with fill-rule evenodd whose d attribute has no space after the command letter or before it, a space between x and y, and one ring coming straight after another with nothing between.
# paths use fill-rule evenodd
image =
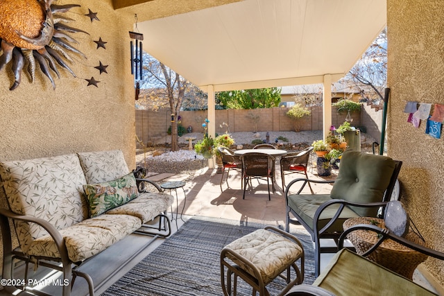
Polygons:
<instances>
[{"instance_id":1,"label":"green seat cushion of the fully visible high-backed armchair","mask_svg":"<svg viewBox=\"0 0 444 296\"><path fill-rule=\"evenodd\" d=\"M332 200L329 194L293 194L288 197L289 207L293 209L293 211L295 211L296 214L307 223L307 225L309 225L311 230L313 230L313 218L316 210L321 204L329 200ZM318 223L318 229L327 225L331 218L333 218L334 214L336 214L338 208L339 204L332 204L323 211ZM355 217L359 217L359 215L350 208L344 207L341 215L328 229L328 232L343 232L342 224L344 221L348 218Z\"/></svg>"}]
</instances>

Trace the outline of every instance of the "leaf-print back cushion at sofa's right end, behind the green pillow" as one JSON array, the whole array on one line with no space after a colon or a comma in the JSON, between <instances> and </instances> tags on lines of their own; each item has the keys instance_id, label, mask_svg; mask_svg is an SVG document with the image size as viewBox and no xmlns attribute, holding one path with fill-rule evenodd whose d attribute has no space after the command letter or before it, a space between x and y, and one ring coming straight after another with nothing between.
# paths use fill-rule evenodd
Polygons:
<instances>
[{"instance_id":1,"label":"leaf-print back cushion at sofa's right end, behind the green pillow","mask_svg":"<svg viewBox=\"0 0 444 296\"><path fill-rule=\"evenodd\" d=\"M86 184L116 180L130 173L121 150L77 153Z\"/></svg>"}]
</instances>

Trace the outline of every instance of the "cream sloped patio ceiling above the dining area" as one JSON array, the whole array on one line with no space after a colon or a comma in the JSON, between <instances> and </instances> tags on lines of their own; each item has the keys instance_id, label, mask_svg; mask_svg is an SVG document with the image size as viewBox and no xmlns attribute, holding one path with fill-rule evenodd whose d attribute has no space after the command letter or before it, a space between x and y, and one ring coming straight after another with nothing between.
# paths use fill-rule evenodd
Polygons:
<instances>
[{"instance_id":1,"label":"cream sloped patio ceiling above the dining area","mask_svg":"<svg viewBox=\"0 0 444 296\"><path fill-rule=\"evenodd\" d=\"M214 92L335 82L384 26L386 0L244 0L137 24L146 52Z\"/></svg>"}]
</instances>

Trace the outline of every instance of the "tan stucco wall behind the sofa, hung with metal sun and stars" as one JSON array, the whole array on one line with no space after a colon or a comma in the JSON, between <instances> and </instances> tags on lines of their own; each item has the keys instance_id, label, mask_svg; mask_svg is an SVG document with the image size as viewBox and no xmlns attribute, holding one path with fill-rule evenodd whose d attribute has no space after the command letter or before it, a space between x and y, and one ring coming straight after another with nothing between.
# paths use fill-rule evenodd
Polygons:
<instances>
[{"instance_id":1,"label":"tan stucco wall behind the sofa, hung with metal sun and stars","mask_svg":"<svg viewBox=\"0 0 444 296\"><path fill-rule=\"evenodd\" d=\"M87 60L72 54L69 63L78 78L60 68L56 90L37 65L37 79L31 84L24 73L21 85L10 92L10 65L0 72L0 159L27 159L78 151L121 149L128 166L135 165L134 88L130 75L128 31L134 18L116 12L112 1L69 1L78 3L65 13L76 21L69 26L87 31L71 34L80 44ZM100 21L85 16L88 8L98 12ZM108 42L106 49L97 49L94 40ZM99 61L109 65L99 75ZM92 76L101 82L87 86Z\"/></svg>"}]
</instances>

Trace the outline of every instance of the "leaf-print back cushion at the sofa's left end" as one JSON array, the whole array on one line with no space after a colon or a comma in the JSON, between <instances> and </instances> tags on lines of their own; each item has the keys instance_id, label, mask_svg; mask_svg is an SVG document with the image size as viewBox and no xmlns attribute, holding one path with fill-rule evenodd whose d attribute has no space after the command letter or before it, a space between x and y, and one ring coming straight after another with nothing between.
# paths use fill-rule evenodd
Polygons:
<instances>
[{"instance_id":1,"label":"leaf-print back cushion at the sofa's left end","mask_svg":"<svg viewBox=\"0 0 444 296\"><path fill-rule=\"evenodd\" d=\"M0 175L11 211L49 221L57 229L88 217L83 175L75 154L3 162ZM16 223L17 236L26 252L33 238L48 234L34 223Z\"/></svg>"}]
</instances>

